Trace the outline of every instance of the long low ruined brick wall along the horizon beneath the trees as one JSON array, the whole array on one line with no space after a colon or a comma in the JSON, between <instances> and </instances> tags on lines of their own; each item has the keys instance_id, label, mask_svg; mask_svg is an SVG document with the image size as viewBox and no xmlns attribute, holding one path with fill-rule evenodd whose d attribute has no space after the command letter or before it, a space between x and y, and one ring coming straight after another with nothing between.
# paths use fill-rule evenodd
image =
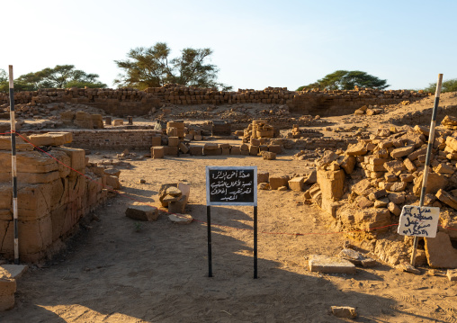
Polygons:
<instances>
[{"instance_id":1,"label":"long low ruined brick wall along the horizon beneath the trees","mask_svg":"<svg viewBox=\"0 0 457 323\"><path fill-rule=\"evenodd\" d=\"M15 103L30 103L31 106L53 102L84 103L103 109L110 114L143 115L153 107L164 103L235 104L273 103L287 104L291 112L319 114L321 116L353 113L363 105L382 105L416 101L428 96L405 90L353 90L353 91L288 91L282 87L267 87L264 90L217 91L211 88L165 85L148 87L145 91L135 89L40 89L14 94ZM0 105L9 103L8 94L0 94Z\"/></svg>"}]
</instances>

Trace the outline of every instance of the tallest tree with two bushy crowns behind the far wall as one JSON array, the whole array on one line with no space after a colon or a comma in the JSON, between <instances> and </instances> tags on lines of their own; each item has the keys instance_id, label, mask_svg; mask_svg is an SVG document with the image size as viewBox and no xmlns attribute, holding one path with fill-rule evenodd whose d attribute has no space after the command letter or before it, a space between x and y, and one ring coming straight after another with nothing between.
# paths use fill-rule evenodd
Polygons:
<instances>
[{"instance_id":1,"label":"tallest tree with two bushy crowns behind the far wall","mask_svg":"<svg viewBox=\"0 0 457 323\"><path fill-rule=\"evenodd\" d=\"M211 49L183 49L181 56L176 58L169 58L170 52L165 42L157 42L148 48L130 49L128 59L114 61L123 70L114 84L139 89L167 83L231 89L231 86L217 82L219 68L207 63Z\"/></svg>"}]
</instances>

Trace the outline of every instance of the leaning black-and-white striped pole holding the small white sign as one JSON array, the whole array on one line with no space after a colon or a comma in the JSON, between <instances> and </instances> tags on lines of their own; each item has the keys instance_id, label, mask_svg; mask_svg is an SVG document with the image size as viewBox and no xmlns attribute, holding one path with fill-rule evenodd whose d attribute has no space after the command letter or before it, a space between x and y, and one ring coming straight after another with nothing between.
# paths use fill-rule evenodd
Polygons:
<instances>
[{"instance_id":1,"label":"leaning black-and-white striped pole holding the small white sign","mask_svg":"<svg viewBox=\"0 0 457 323\"><path fill-rule=\"evenodd\" d=\"M428 180L428 173L430 171L430 159L432 156L432 148L434 147L435 139L435 125L436 125L436 112L438 111L438 103L440 102L441 85L443 83L443 74L438 74L438 82L436 83L435 92L435 104L432 112L432 122L430 123L430 133L428 134L428 145L426 148L426 167L424 168L424 176L422 177L422 191L420 193L419 207L424 206L424 199L426 197L426 183ZM411 265L414 266L416 263L416 251L417 251L417 236L414 237L413 253L411 255Z\"/></svg>"}]
</instances>

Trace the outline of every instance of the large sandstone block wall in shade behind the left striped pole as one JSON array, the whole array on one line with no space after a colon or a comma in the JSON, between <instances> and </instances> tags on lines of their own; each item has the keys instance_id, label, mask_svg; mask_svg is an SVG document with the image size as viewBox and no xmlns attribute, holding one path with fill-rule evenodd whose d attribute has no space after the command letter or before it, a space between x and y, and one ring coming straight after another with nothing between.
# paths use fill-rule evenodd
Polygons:
<instances>
[{"instance_id":1,"label":"large sandstone block wall in shade behind the left striped pole","mask_svg":"<svg viewBox=\"0 0 457 323\"><path fill-rule=\"evenodd\" d=\"M0 254L13 258L13 196L10 139L0 136ZM2 150L4 149L4 150ZM52 148L49 154L90 181L44 153L31 150L18 139L18 233L22 261L35 263L49 258L63 246L81 217L104 202L107 190L100 167L87 167L84 149ZM93 174L92 172L96 173Z\"/></svg>"}]
</instances>

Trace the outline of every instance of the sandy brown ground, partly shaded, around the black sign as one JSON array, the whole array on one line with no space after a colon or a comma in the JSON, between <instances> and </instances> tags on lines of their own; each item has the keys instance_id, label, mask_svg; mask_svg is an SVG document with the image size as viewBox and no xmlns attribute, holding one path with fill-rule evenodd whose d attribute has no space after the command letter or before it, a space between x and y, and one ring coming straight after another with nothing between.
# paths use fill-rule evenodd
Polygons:
<instances>
[{"instance_id":1,"label":"sandy brown ground, partly shaded, around the black sign","mask_svg":"<svg viewBox=\"0 0 457 323\"><path fill-rule=\"evenodd\" d=\"M97 157L97 156L91 156ZM344 241L314 206L291 191L258 194L258 279L253 279L252 207L213 207L213 277L208 277L205 166L258 166L303 173L303 162L282 156L168 157L131 162L122 192L152 203L160 184L192 185L177 225L125 217L130 199L116 197L95 212L67 253L18 282L16 306L1 322L339 322L332 305L352 306L358 322L455 322L457 285L435 276L402 273L387 265L356 274L318 274L311 254L336 255ZM139 184L140 178L146 184ZM288 233L288 234L282 234ZM293 233L302 233L296 236ZM324 235L319 235L323 233ZM349 319L346 319L350 321Z\"/></svg>"}]
</instances>

